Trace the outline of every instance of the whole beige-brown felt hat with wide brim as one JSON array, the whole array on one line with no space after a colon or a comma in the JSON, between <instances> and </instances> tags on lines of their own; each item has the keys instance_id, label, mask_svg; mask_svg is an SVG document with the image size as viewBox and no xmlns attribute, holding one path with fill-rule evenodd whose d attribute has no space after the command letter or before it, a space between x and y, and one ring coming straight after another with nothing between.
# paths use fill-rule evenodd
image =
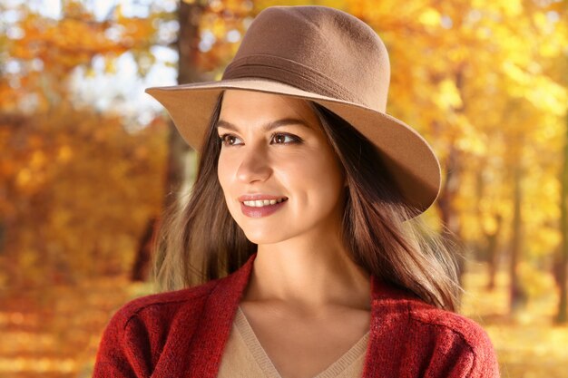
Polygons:
<instances>
[{"instance_id":1,"label":"whole beige-brown felt hat with wide brim","mask_svg":"<svg viewBox=\"0 0 568 378\"><path fill-rule=\"evenodd\" d=\"M273 6L250 24L220 81L146 92L162 102L196 150L224 90L317 102L377 146L407 203L422 212L438 196L440 164L416 131L386 113L389 81L387 49L357 17L326 6Z\"/></svg>"}]
</instances>

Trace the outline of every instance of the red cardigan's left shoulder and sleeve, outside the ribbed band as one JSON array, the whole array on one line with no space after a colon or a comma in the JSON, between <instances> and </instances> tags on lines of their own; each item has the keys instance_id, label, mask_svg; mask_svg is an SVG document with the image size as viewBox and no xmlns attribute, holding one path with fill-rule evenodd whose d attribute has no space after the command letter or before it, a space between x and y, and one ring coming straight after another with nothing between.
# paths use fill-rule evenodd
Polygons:
<instances>
[{"instance_id":1,"label":"red cardigan's left shoulder and sleeve, outside the ribbed band","mask_svg":"<svg viewBox=\"0 0 568 378\"><path fill-rule=\"evenodd\" d=\"M180 344L176 337L188 340L194 334L219 281L122 305L103 332L93 377L150 376L168 342Z\"/></svg>"}]
</instances>

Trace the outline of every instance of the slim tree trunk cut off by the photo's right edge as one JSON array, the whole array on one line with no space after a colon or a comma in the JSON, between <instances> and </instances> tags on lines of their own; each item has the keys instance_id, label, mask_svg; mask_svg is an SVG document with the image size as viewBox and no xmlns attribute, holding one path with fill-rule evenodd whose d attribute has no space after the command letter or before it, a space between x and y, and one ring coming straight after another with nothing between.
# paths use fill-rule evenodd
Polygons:
<instances>
[{"instance_id":1,"label":"slim tree trunk cut off by the photo's right edge","mask_svg":"<svg viewBox=\"0 0 568 378\"><path fill-rule=\"evenodd\" d=\"M560 247L560 267L558 269L558 285L560 300L555 321L558 324L568 323L568 114L566 114L566 136L564 140L564 159L561 174L560 191L560 234L562 243Z\"/></svg>"}]
</instances>

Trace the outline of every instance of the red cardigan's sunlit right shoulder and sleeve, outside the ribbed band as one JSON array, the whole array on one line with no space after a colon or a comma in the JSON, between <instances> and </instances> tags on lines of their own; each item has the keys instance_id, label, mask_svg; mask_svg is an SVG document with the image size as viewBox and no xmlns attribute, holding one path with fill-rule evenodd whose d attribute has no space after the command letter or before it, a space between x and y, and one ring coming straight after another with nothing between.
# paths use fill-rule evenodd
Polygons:
<instances>
[{"instance_id":1,"label":"red cardigan's sunlit right shoulder and sleeve, outside the ribbed band","mask_svg":"<svg viewBox=\"0 0 568 378\"><path fill-rule=\"evenodd\" d=\"M417 377L495 378L495 350L481 325L428 305L406 290L381 286L375 309L377 359L399 374ZM393 352L395 351L395 352Z\"/></svg>"}]
</instances>

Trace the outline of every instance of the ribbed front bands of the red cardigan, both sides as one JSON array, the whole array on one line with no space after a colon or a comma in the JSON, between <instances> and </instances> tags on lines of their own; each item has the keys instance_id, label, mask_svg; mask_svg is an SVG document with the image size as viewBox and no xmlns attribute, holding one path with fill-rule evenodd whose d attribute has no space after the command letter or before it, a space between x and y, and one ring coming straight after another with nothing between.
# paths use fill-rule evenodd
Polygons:
<instances>
[{"instance_id":1,"label":"ribbed front bands of the red cardigan, both sides","mask_svg":"<svg viewBox=\"0 0 568 378\"><path fill-rule=\"evenodd\" d=\"M202 312L201 322L191 339L191 354L186 363L186 378L215 378L223 349L249 283L256 253L239 270L218 280ZM402 343L408 323L408 305L400 299L407 295L387 286L371 275L371 319L363 378L397 377Z\"/></svg>"}]
</instances>

